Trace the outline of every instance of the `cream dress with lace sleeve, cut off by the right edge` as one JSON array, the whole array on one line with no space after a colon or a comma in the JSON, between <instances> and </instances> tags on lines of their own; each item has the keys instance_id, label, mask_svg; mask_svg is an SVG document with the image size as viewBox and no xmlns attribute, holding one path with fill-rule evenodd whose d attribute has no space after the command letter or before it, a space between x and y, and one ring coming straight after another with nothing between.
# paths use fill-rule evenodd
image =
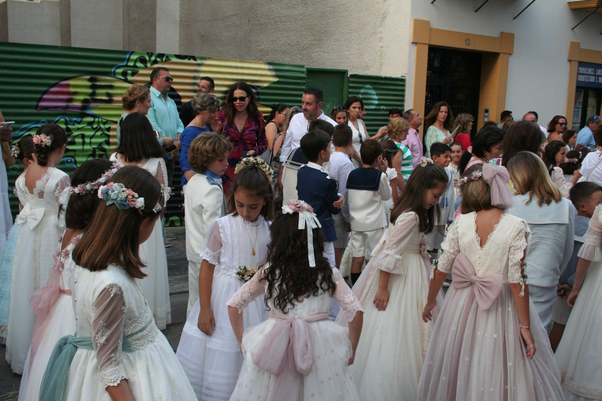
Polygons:
<instances>
[{"instance_id":1,"label":"cream dress with lace sleeve, cut off by the right edge","mask_svg":"<svg viewBox=\"0 0 602 401\"><path fill-rule=\"evenodd\" d=\"M592 261L566 322L556 360L566 400L602 400L602 206L589 220L579 257Z\"/></svg>"}]
</instances>

